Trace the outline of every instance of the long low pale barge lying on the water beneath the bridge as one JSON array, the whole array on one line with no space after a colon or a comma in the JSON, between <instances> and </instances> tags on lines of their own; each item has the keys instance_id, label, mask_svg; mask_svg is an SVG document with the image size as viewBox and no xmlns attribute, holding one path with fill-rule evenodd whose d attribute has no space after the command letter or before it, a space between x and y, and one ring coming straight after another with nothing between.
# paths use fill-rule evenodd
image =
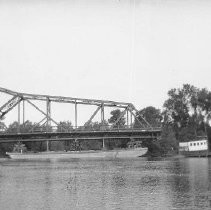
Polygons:
<instances>
[{"instance_id":1,"label":"long low pale barge lying on the water beneath the bridge","mask_svg":"<svg viewBox=\"0 0 211 210\"><path fill-rule=\"evenodd\" d=\"M18 149L17 149L18 148ZM148 148L141 147L140 144L133 142L126 149L114 150L81 150L81 151L47 151L47 152L27 152L25 145L15 145L14 152L6 154L11 159L19 160L43 160L43 159L115 159L115 158L137 158L147 153Z\"/></svg>"}]
</instances>

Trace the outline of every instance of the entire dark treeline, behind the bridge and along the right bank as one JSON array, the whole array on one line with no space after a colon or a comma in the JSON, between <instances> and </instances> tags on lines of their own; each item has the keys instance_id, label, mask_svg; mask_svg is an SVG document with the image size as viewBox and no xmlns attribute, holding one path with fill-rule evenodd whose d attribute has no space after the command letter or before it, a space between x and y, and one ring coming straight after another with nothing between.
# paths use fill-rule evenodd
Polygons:
<instances>
[{"instance_id":1,"label":"entire dark treeline, behind the bridge and along the right bank","mask_svg":"<svg viewBox=\"0 0 211 210\"><path fill-rule=\"evenodd\" d=\"M86 126L87 129L101 129L103 126L112 125L121 115L119 109L111 111L111 116L108 121L92 122ZM196 88L189 84L184 84L181 88L173 88L168 91L168 98L163 104L163 109L157 109L153 106L148 106L139 111L146 121L152 127L161 127L162 135L156 141L143 141L143 144L149 148L149 153L152 155L172 155L178 152L178 144L181 141L194 140L197 136L208 136L211 139L211 127L209 120L211 119L211 92L206 88ZM137 113L139 121L142 119ZM126 126L126 118L122 117L115 127L123 128ZM133 123L134 127L140 127L138 120ZM0 130L3 130L5 125L0 122ZM18 122L13 122L6 128L8 133L16 133L17 129L20 132L30 132L32 129L41 129L35 123L26 121L20 126ZM51 128L42 127L42 131L49 131ZM57 131L71 131L73 129L70 121L60 122ZM5 130L5 129L4 129ZM105 141L108 149L125 148L128 140L109 140ZM210 145L210 144L209 144ZM27 142L26 147L32 151L45 151L45 142ZM12 144L1 144L0 152L11 151ZM76 148L74 141L55 141L50 143L51 150L74 150ZM101 149L102 140L81 141L80 149Z\"/></svg>"}]
</instances>

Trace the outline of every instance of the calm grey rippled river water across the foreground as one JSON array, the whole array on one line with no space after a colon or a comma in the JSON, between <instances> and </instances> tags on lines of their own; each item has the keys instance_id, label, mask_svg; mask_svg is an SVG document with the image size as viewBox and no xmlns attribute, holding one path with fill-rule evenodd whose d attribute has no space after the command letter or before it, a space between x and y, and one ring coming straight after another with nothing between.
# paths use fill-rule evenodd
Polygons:
<instances>
[{"instance_id":1,"label":"calm grey rippled river water across the foreground","mask_svg":"<svg viewBox=\"0 0 211 210\"><path fill-rule=\"evenodd\" d=\"M0 209L211 209L211 158L2 160Z\"/></svg>"}]
</instances>

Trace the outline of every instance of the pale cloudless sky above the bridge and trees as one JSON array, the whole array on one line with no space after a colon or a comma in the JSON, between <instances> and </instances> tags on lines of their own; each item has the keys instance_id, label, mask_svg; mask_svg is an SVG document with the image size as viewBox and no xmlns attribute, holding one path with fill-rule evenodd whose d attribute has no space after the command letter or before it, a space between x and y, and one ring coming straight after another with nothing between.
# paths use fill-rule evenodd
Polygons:
<instances>
[{"instance_id":1,"label":"pale cloudless sky above the bridge and trees","mask_svg":"<svg viewBox=\"0 0 211 210\"><path fill-rule=\"evenodd\" d=\"M0 87L162 109L211 89L210 37L209 0L0 0Z\"/></svg>"}]
</instances>

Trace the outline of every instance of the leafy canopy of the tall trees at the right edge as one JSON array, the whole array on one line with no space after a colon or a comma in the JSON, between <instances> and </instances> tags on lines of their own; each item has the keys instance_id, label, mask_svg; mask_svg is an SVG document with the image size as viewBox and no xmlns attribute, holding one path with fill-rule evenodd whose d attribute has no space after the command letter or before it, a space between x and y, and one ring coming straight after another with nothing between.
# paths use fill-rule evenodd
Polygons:
<instances>
[{"instance_id":1,"label":"leafy canopy of the tall trees at the right edge","mask_svg":"<svg viewBox=\"0 0 211 210\"><path fill-rule=\"evenodd\" d=\"M168 92L164 102L163 119L171 125L180 141L194 139L205 132L205 123L211 119L211 92L189 84Z\"/></svg>"}]
</instances>

